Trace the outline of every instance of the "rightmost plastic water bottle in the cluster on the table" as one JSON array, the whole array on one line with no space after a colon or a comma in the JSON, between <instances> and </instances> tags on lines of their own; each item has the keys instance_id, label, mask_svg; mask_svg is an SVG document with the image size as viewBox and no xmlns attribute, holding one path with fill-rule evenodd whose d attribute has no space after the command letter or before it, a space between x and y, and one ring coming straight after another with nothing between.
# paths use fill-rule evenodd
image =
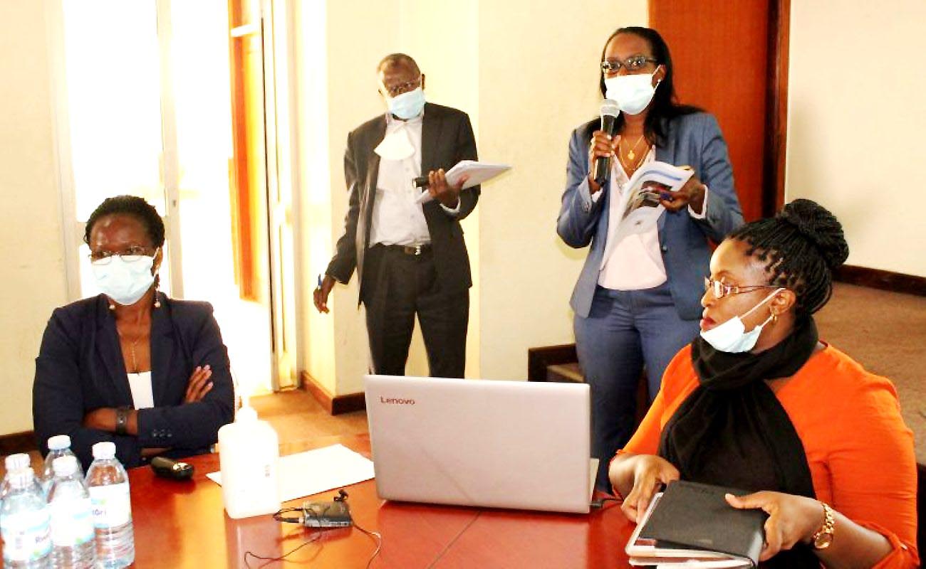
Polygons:
<instances>
[{"instance_id":1,"label":"rightmost plastic water bottle in the cluster on the table","mask_svg":"<svg viewBox=\"0 0 926 569\"><path fill-rule=\"evenodd\" d=\"M87 469L87 487L94 505L96 566L128 567L135 561L129 476L116 459L116 445L112 442L94 444L94 463Z\"/></svg>"}]
</instances>

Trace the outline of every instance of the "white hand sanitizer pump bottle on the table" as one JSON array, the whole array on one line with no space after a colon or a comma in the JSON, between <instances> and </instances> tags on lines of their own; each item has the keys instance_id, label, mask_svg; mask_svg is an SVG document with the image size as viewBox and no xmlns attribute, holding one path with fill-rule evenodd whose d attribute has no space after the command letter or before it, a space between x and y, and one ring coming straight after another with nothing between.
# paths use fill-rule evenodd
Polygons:
<instances>
[{"instance_id":1,"label":"white hand sanitizer pump bottle on the table","mask_svg":"<svg viewBox=\"0 0 926 569\"><path fill-rule=\"evenodd\" d=\"M242 402L234 423L219 428L222 501L232 518L280 509L280 440L267 421L257 419L246 397Z\"/></svg>"}]
</instances>

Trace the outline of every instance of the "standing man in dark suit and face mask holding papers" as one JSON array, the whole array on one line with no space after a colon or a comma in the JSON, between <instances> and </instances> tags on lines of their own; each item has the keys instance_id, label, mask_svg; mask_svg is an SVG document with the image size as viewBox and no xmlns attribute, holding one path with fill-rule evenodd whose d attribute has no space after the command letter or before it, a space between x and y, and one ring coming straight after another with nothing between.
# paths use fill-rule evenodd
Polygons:
<instances>
[{"instance_id":1,"label":"standing man in dark suit and face mask holding papers","mask_svg":"<svg viewBox=\"0 0 926 569\"><path fill-rule=\"evenodd\" d=\"M346 283L356 267L372 371L405 374L418 315L431 375L463 377L472 278L459 221L480 190L463 190L465 179L451 185L444 170L475 160L476 140L466 113L424 102L414 59L385 56L377 70L389 110L347 135L344 235L315 306L328 312L334 282ZM414 179L425 173L430 195L420 196Z\"/></svg>"}]
</instances>

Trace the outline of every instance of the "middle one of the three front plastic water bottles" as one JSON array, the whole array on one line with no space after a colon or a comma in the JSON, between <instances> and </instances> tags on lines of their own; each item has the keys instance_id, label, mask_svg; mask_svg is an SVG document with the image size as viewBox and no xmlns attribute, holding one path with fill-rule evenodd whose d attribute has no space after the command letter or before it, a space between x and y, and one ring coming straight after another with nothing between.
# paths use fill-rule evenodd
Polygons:
<instances>
[{"instance_id":1,"label":"middle one of the three front plastic water bottles","mask_svg":"<svg viewBox=\"0 0 926 569\"><path fill-rule=\"evenodd\" d=\"M77 458L59 456L52 464L55 481L48 492L52 524L53 569L93 569L96 561L94 511L78 472Z\"/></svg>"}]
</instances>

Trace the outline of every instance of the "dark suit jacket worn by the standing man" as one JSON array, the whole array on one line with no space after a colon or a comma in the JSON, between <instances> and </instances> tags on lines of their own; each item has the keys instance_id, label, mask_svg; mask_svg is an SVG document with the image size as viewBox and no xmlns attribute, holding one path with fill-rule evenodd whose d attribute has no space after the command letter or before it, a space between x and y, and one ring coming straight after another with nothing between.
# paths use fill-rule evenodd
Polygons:
<instances>
[{"instance_id":1,"label":"dark suit jacket worn by the standing man","mask_svg":"<svg viewBox=\"0 0 926 569\"><path fill-rule=\"evenodd\" d=\"M376 198L376 181L380 172L380 156L373 149L386 134L386 117L373 118L347 135L344 152L344 179L350 198L344 216L344 235L338 240L332 262L326 273L346 283L357 268L360 285L359 301L365 299L363 257L369 249L369 229ZM421 173L454 167L460 160L475 160L476 138L469 116L448 106L424 105L421 122ZM469 216L479 201L479 186L460 192L460 210L454 216L432 201L422 206L431 234L434 268L442 291L465 291L472 286L469 255L463 241L459 220Z\"/></svg>"}]
</instances>

